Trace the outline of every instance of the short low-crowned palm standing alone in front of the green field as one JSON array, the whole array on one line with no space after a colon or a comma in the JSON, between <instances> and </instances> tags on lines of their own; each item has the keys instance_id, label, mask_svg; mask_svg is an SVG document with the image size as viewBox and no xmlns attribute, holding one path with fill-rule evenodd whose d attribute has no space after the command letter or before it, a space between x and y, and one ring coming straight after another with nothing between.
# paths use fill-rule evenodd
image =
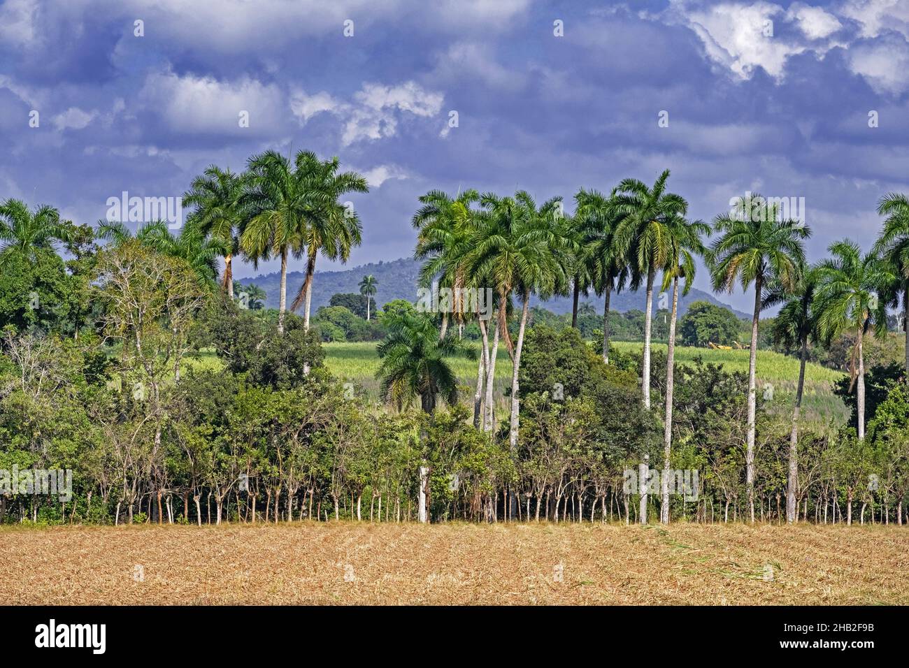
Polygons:
<instances>
[{"instance_id":1,"label":"short low-crowned palm standing alone in front of the green field","mask_svg":"<svg viewBox=\"0 0 909 668\"><path fill-rule=\"evenodd\" d=\"M433 414L439 399L457 404L457 378L445 361L455 354L471 356L474 351L466 342L453 336L441 339L435 324L424 314L394 315L385 321L388 336L376 347L382 365L376 377L381 379L385 401L399 410L419 397L425 414ZM425 430L421 429L425 442ZM418 517L429 521L426 499L429 490L429 466L424 458L420 466Z\"/></svg>"}]
</instances>

